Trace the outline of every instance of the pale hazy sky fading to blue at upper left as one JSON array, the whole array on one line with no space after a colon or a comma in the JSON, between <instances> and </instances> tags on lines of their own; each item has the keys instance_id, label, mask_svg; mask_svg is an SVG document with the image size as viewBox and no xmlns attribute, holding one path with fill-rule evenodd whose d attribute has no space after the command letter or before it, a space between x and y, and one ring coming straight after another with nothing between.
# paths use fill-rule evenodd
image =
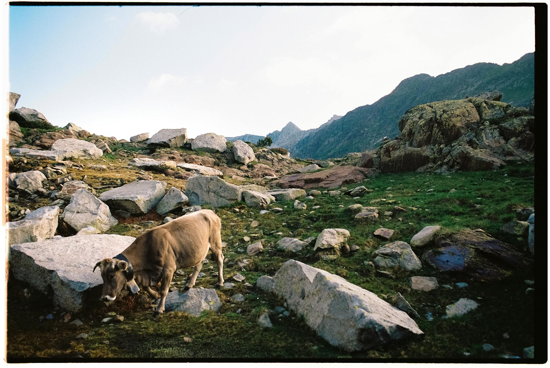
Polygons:
<instances>
[{"instance_id":1,"label":"pale hazy sky fading to blue at upper left","mask_svg":"<svg viewBox=\"0 0 550 368\"><path fill-rule=\"evenodd\" d=\"M535 51L529 7L10 7L10 90L129 139L316 128L409 76Z\"/></svg>"}]
</instances>

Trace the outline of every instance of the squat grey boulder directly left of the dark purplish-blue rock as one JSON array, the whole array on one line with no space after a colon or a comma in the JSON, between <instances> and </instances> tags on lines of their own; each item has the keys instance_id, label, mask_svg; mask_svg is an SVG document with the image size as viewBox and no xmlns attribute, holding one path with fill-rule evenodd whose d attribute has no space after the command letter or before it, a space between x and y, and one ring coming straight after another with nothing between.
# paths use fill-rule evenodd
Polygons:
<instances>
[{"instance_id":1,"label":"squat grey boulder directly left of the dark purplish-blue rock","mask_svg":"<svg viewBox=\"0 0 550 368\"><path fill-rule=\"evenodd\" d=\"M416 271L422 268L422 263L414 254L411 246L404 241L394 241L375 250L372 262L378 268L402 268L406 271Z\"/></svg>"}]
</instances>

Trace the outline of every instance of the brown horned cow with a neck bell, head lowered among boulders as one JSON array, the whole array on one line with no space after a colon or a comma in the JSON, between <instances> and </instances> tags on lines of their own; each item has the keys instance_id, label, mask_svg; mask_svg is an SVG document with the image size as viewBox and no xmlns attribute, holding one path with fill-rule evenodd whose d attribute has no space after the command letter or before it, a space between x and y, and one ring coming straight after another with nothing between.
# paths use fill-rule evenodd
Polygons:
<instances>
[{"instance_id":1,"label":"brown horned cow with a neck bell, head lowered among boulders","mask_svg":"<svg viewBox=\"0 0 550 368\"><path fill-rule=\"evenodd\" d=\"M101 299L114 300L126 285L136 293L140 283L152 298L161 298L155 315L164 311L164 299L175 270L195 267L186 289L195 285L208 248L212 260L218 263L218 283L223 286L222 223L211 210L188 213L164 225L147 230L134 240L121 254L96 263L103 278ZM161 282L160 295L151 286Z\"/></svg>"}]
</instances>

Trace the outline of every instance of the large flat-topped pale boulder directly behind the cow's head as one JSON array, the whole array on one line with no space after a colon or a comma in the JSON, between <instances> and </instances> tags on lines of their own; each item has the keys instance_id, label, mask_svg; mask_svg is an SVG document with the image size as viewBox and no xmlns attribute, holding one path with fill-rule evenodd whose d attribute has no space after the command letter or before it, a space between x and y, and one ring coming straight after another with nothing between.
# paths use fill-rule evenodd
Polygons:
<instances>
[{"instance_id":1,"label":"large flat-topped pale boulder directly behind the cow's head","mask_svg":"<svg viewBox=\"0 0 550 368\"><path fill-rule=\"evenodd\" d=\"M79 311L87 296L98 298L101 272L92 272L97 261L113 257L133 243L123 235L95 234L52 238L10 247L10 270L18 280L29 283L64 310ZM94 298L94 299L95 299Z\"/></svg>"}]
</instances>

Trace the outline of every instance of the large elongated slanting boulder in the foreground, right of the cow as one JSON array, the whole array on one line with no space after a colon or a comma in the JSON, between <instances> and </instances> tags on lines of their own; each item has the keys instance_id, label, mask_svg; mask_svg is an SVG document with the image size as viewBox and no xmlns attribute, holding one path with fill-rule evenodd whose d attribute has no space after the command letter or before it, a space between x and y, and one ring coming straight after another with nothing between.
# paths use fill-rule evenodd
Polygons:
<instances>
[{"instance_id":1,"label":"large elongated slanting boulder in the foreground, right of the cow","mask_svg":"<svg viewBox=\"0 0 550 368\"><path fill-rule=\"evenodd\" d=\"M423 334L405 312L376 294L295 260L285 262L271 282L258 281L267 292L284 298L288 309L320 337L346 351Z\"/></svg>"}]
</instances>

